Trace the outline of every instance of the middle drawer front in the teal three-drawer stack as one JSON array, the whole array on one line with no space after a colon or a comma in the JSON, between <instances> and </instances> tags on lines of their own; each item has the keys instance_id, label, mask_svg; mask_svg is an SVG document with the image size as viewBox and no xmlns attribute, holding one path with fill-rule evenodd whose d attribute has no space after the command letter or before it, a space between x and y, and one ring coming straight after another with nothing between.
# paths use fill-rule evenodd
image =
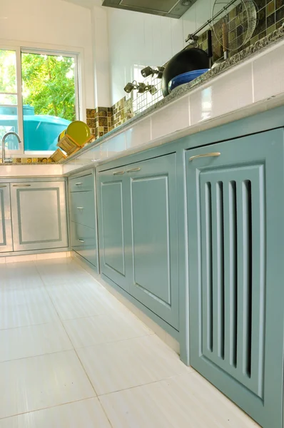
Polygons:
<instances>
[{"instance_id":1,"label":"middle drawer front in the teal three-drawer stack","mask_svg":"<svg viewBox=\"0 0 284 428\"><path fill-rule=\"evenodd\" d=\"M73 192L71 200L71 221L88 226L96 227L95 202L93 192Z\"/></svg>"}]
</instances>

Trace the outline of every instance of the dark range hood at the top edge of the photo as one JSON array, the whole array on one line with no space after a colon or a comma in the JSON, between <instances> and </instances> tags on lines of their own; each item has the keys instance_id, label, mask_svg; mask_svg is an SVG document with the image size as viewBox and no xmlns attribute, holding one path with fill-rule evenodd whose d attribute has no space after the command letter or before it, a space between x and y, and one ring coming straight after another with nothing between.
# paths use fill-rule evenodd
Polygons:
<instances>
[{"instance_id":1,"label":"dark range hood at the top edge of the photo","mask_svg":"<svg viewBox=\"0 0 284 428\"><path fill-rule=\"evenodd\" d=\"M178 19L195 2L196 0L104 0L103 6Z\"/></svg>"}]
</instances>

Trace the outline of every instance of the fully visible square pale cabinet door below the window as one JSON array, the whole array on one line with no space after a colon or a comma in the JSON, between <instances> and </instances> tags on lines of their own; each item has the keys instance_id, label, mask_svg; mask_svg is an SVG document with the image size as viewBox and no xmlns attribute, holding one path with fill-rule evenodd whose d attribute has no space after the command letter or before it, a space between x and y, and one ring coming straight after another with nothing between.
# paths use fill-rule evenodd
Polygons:
<instances>
[{"instance_id":1,"label":"fully visible square pale cabinet door below the window","mask_svg":"<svg viewBox=\"0 0 284 428\"><path fill-rule=\"evenodd\" d=\"M14 250L68 247L65 183L11 183Z\"/></svg>"}]
</instances>

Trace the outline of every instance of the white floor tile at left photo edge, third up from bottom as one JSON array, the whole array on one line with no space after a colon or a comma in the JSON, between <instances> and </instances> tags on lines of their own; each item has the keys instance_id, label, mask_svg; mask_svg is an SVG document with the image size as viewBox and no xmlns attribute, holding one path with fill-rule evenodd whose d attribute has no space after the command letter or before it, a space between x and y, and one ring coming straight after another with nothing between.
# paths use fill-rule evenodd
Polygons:
<instances>
[{"instance_id":1,"label":"white floor tile at left photo edge, third up from bottom","mask_svg":"<svg viewBox=\"0 0 284 428\"><path fill-rule=\"evenodd\" d=\"M0 362L72 350L61 322L0 330Z\"/></svg>"}]
</instances>

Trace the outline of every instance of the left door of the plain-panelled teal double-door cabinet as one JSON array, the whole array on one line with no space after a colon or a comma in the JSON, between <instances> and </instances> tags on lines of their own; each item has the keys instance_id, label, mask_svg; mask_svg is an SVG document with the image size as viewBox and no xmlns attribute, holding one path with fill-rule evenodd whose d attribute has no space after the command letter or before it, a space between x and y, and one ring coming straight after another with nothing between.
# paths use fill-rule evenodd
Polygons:
<instances>
[{"instance_id":1,"label":"left door of the plain-panelled teal double-door cabinet","mask_svg":"<svg viewBox=\"0 0 284 428\"><path fill-rule=\"evenodd\" d=\"M123 168L98 173L98 223L101 272L128 290L126 228L130 213L125 209L125 179Z\"/></svg>"}]
</instances>

